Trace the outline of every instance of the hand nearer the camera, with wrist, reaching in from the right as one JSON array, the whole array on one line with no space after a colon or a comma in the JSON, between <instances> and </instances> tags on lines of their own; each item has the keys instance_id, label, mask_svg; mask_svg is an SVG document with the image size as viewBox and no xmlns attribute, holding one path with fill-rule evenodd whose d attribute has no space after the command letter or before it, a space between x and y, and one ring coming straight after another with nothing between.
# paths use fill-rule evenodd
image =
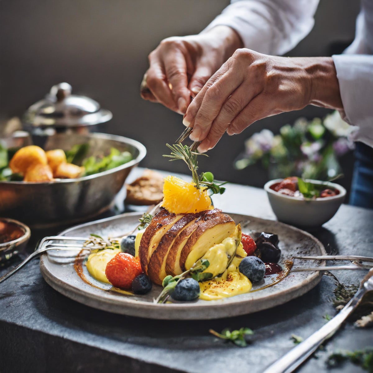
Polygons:
<instances>
[{"instance_id":1,"label":"hand nearer the camera, with wrist, reaching in from the right","mask_svg":"<svg viewBox=\"0 0 373 373\"><path fill-rule=\"evenodd\" d=\"M189 105L183 123L200 152L225 131L239 134L251 123L308 104L343 109L331 57L276 57L238 49Z\"/></svg>"}]
</instances>

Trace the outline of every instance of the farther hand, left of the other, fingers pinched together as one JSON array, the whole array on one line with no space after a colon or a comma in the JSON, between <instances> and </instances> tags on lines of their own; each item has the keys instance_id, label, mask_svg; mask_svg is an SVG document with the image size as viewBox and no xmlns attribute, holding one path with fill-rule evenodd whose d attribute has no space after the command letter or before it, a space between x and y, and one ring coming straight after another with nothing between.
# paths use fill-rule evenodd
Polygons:
<instances>
[{"instance_id":1,"label":"farther hand, left of the other, fingers pinched together","mask_svg":"<svg viewBox=\"0 0 373 373\"><path fill-rule=\"evenodd\" d=\"M190 97L241 47L241 38L228 26L164 39L149 54L150 67L141 83L141 97L184 114Z\"/></svg>"}]
</instances>

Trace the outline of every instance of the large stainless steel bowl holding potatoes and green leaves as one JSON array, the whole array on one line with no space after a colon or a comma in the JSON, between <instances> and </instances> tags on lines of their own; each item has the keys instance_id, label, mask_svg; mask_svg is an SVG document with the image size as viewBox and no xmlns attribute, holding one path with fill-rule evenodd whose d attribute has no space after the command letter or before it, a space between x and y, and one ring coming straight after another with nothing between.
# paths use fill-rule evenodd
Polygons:
<instances>
[{"instance_id":1,"label":"large stainless steel bowl holding potatoes and green leaves","mask_svg":"<svg viewBox=\"0 0 373 373\"><path fill-rule=\"evenodd\" d=\"M1 142L4 144L4 139ZM21 220L31 228L47 228L91 219L109 209L131 169L145 157L146 149L140 142L126 137L91 133L53 135L47 139L44 150L69 150L82 143L90 145L87 156L109 153L115 147L129 151L133 160L79 179L38 183L1 181L0 216ZM14 140L8 139L6 144L14 146ZM16 144L29 145L29 138L19 137Z\"/></svg>"}]
</instances>

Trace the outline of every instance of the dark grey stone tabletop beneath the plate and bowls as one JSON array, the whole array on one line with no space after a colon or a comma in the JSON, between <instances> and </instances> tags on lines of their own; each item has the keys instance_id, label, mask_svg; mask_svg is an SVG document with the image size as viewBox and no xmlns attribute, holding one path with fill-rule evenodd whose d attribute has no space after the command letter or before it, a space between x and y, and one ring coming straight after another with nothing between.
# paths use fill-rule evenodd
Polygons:
<instances>
[{"instance_id":1,"label":"dark grey stone tabletop beneath the plate and bowls","mask_svg":"<svg viewBox=\"0 0 373 373\"><path fill-rule=\"evenodd\" d=\"M141 171L134 170L130 178ZM232 213L275 219L265 192L257 188L231 184L214 204ZM372 256L372 222L373 210L343 205L313 234L329 253ZM32 232L28 251L40 236L59 230ZM0 276L18 262L16 258L0 267ZM365 272L333 273L344 284L358 284ZM336 314L332 305L335 286L336 280L324 275L302 297L240 317L147 320L95 310L64 297L47 285L35 259L0 284L0 372L262 372L294 346L292 334L306 338L326 322L326 314ZM255 332L245 348L209 333L210 328L220 332L242 326ZM331 351L372 345L372 329L358 329L350 320L299 372L326 372ZM345 363L332 372L364 371Z\"/></svg>"}]
</instances>

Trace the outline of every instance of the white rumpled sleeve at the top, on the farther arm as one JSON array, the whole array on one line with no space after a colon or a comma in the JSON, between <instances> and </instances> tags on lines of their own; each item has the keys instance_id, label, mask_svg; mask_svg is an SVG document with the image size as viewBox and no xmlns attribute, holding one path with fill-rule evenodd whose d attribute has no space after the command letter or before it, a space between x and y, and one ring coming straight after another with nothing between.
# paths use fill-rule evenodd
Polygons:
<instances>
[{"instance_id":1,"label":"white rumpled sleeve at the top, on the farther arm","mask_svg":"<svg viewBox=\"0 0 373 373\"><path fill-rule=\"evenodd\" d=\"M202 32L218 25L233 28L245 48L281 55L312 29L319 0L232 0Z\"/></svg>"}]
</instances>

